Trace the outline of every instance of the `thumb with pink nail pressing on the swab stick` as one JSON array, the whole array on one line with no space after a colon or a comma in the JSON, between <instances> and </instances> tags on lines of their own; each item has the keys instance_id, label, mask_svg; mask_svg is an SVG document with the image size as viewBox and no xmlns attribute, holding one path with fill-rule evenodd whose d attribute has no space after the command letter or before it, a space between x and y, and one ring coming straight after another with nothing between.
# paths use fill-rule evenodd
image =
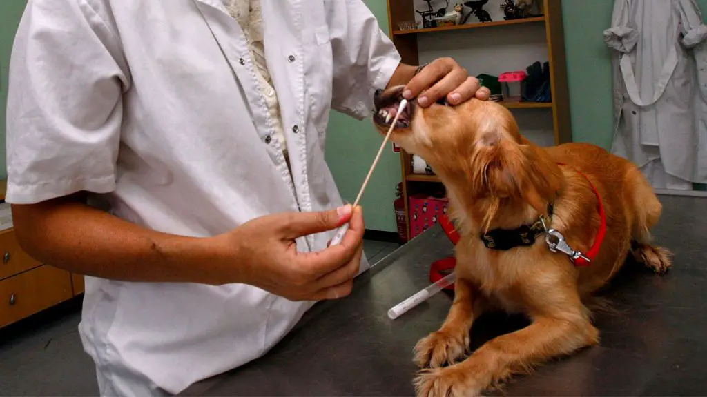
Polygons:
<instances>
[{"instance_id":1,"label":"thumb with pink nail pressing on the swab stick","mask_svg":"<svg viewBox=\"0 0 707 397\"><path fill-rule=\"evenodd\" d=\"M351 219L351 206L341 206L329 211L290 213L285 221L286 239L326 232L344 225Z\"/></svg>"}]
</instances>

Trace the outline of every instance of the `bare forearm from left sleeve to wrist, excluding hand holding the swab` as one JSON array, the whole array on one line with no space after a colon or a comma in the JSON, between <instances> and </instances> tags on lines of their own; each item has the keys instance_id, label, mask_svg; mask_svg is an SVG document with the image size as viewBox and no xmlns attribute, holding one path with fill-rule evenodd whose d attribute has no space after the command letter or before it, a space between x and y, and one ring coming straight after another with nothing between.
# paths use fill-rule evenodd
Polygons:
<instances>
[{"instance_id":1,"label":"bare forearm from left sleeve to wrist, excluding hand holding the swab","mask_svg":"<svg viewBox=\"0 0 707 397\"><path fill-rule=\"evenodd\" d=\"M87 206L82 196L13 204L22 249L38 261L100 278L218 283L207 239L148 230Z\"/></svg>"}]
</instances>

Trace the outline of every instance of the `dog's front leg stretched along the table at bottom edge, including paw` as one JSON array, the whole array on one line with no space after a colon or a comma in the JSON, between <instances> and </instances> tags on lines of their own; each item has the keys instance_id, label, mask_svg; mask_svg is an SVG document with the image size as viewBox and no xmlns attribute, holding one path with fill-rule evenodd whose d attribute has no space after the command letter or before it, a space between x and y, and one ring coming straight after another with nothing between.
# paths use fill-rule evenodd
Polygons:
<instances>
[{"instance_id":1,"label":"dog's front leg stretched along the table at bottom edge, including paw","mask_svg":"<svg viewBox=\"0 0 707 397\"><path fill-rule=\"evenodd\" d=\"M489 340L463 362L423 371L416 379L417 395L479 396L514 373L598 341L599 331L585 316L539 316L520 331Z\"/></svg>"}]
</instances>

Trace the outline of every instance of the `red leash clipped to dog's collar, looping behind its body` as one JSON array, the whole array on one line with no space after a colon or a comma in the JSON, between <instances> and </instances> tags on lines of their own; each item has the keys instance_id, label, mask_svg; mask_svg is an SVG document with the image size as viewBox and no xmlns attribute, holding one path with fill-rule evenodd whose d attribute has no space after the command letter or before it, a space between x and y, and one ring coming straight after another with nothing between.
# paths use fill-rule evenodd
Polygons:
<instances>
[{"instance_id":1,"label":"red leash clipped to dog's collar, looping behind its body","mask_svg":"<svg viewBox=\"0 0 707 397\"><path fill-rule=\"evenodd\" d=\"M599 194L597 187L592 184L592 181L589 179L589 177L587 177L587 175L585 175L580 170L577 170L575 167L567 165L563 162L558 162L558 165L571 167L578 174L582 175L585 179L587 179L587 182L589 182L589 186L592 188L592 191L594 191L595 196L597 196L597 210L599 211L600 225L599 230L597 231L597 236L594 240L594 244L592 244L592 247L590 247L589 251L585 253L585 256L589 259L589 261L586 261L585 259L580 257L574 262L575 266L589 266L591 261L594 261L597 258L599 250L602 247L602 242L604 242L604 237L607 235L607 214L604 212L604 203L602 202L602 197ZM440 215L438 222L442 229L445 231L447 237L449 237L449 239L451 240L452 244L457 245L460 239L460 235L455 229L454 225L452 225L452 223L450 222L449 217L447 215ZM439 261L432 263L432 266L430 266L430 282L436 283L438 280L444 278L445 275L447 275L450 271L454 270L456 263L457 260L454 257L440 259ZM452 284L445 289L454 290L454 285Z\"/></svg>"}]
</instances>

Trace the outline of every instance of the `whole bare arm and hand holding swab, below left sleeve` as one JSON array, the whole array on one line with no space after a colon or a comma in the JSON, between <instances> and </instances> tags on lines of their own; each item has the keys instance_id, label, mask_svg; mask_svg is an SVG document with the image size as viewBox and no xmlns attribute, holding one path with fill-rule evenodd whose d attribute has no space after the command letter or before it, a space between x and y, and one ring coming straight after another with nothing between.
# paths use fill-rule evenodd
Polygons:
<instances>
[{"instance_id":1,"label":"whole bare arm and hand holding swab, below left sleeve","mask_svg":"<svg viewBox=\"0 0 707 397\"><path fill-rule=\"evenodd\" d=\"M292 300L343 297L361 262L363 218L336 210L283 213L214 237L183 237L129 223L81 195L12 206L22 249L51 266L136 282L247 283ZM294 239L350 222L341 244L298 253Z\"/></svg>"}]
</instances>

